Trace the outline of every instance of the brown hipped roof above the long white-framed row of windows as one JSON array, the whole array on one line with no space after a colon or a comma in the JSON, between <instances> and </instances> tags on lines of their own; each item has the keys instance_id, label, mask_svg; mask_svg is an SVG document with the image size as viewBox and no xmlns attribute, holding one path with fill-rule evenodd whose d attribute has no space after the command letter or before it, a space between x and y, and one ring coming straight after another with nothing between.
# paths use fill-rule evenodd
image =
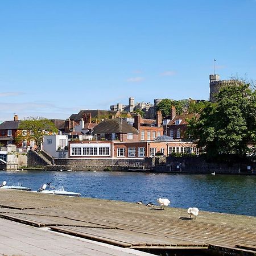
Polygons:
<instances>
[{"instance_id":1,"label":"brown hipped roof above the long white-framed row of windows","mask_svg":"<svg viewBox=\"0 0 256 256\"><path fill-rule=\"evenodd\" d=\"M138 134L138 130L129 125L122 118L107 119L94 127L92 134L101 133L133 133Z\"/></svg>"}]
</instances>

